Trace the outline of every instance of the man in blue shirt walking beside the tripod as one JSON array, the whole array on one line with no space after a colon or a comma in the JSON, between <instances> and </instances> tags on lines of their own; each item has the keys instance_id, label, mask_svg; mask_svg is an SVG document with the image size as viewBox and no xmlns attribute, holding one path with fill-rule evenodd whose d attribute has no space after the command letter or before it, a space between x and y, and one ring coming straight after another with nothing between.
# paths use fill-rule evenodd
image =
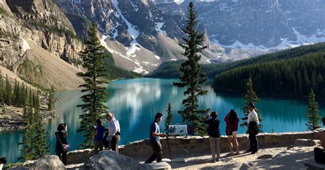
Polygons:
<instances>
[{"instance_id":1,"label":"man in blue shirt walking beside the tripod","mask_svg":"<svg viewBox=\"0 0 325 170\"><path fill-rule=\"evenodd\" d=\"M162 118L163 118L163 114L158 112L156 114L154 121L150 125L149 141L152 147L152 151L154 151L154 154L152 154L152 156L150 156L145 161L145 164L154 162L155 159L157 160L157 162L161 162L161 160L163 159L163 149L160 144L160 137L165 137L166 134L160 133L159 123Z\"/></svg>"}]
</instances>

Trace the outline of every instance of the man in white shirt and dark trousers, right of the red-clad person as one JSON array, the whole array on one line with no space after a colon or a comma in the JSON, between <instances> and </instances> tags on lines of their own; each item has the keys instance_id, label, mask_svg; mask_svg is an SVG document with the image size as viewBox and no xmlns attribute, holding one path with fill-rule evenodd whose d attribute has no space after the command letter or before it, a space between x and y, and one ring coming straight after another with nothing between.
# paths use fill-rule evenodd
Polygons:
<instances>
[{"instance_id":1,"label":"man in white shirt and dark trousers, right of the red-clad person","mask_svg":"<svg viewBox=\"0 0 325 170\"><path fill-rule=\"evenodd\" d=\"M251 151L252 154L256 154L258 151L258 141L256 138L256 134L258 134L258 116L255 111L255 105L253 103L248 104L248 110L250 110L250 114L248 114L247 124L248 124L248 134L250 138L250 149L247 151Z\"/></svg>"}]
</instances>

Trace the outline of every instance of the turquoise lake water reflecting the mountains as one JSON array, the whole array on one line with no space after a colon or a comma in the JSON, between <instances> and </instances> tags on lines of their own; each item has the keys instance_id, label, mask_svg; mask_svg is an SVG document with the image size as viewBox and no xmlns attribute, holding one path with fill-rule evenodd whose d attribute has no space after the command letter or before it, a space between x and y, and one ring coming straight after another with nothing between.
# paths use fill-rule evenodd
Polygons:
<instances>
[{"instance_id":1,"label":"turquoise lake water reflecting the mountains","mask_svg":"<svg viewBox=\"0 0 325 170\"><path fill-rule=\"evenodd\" d=\"M166 114L167 105L171 102L174 112L173 123L182 123L176 110L182 108L182 93L184 90L172 86L175 80L160 80L142 78L135 80L119 80L111 82L108 87L108 106L115 113L121 125L121 145L148 137L149 123L154 120L156 112ZM208 95L200 99L200 107L209 107L219 112L221 119L221 133L225 134L224 117L230 109L237 110L239 117L243 117L241 108L244 101L241 95L224 95L215 93L209 85L204 86ZM71 149L76 149L83 139L76 130L79 127L79 114L82 113L77 104L80 104L80 90L67 90L56 93L60 101L56 103L58 118L46 123L49 134L51 152L54 153L56 138L53 135L59 123L67 123ZM306 101L296 99L262 98L257 104L262 111L264 132L299 132L306 130ZM320 115L324 116L325 105L320 103ZM163 121L165 121L163 117ZM107 126L107 123L105 124ZM164 129L164 123L160 123ZM239 127L239 133L245 128ZM18 145L23 134L18 131L0 132L0 157L5 156L8 162L16 162L21 156L21 147Z\"/></svg>"}]
</instances>

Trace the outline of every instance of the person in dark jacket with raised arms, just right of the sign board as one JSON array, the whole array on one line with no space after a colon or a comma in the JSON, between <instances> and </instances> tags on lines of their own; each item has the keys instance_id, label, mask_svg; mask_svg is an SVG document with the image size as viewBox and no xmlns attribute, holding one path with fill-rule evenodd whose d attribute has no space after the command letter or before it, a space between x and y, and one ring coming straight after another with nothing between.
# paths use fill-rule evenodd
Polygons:
<instances>
[{"instance_id":1,"label":"person in dark jacket with raised arms, just right of the sign board","mask_svg":"<svg viewBox=\"0 0 325 170\"><path fill-rule=\"evenodd\" d=\"M206 120L204 123L208 124L208 138L210 141L210 147L211 147L211 154L212 154L212 162L219 162L220 159L220 120L217 119L217 112L213 111L211 112L211 119L208 119L210 115L208 114L206 116ZM215 155L217 154L217 158Z\"/></svg>"}]
</instances>

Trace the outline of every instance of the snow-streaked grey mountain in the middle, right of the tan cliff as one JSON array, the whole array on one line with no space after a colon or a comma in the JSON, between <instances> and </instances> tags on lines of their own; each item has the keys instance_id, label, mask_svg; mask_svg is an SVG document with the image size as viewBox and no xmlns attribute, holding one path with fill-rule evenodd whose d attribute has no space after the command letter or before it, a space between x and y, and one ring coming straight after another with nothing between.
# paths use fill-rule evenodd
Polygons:
<instances>
[{"instance_id":1,"label":"snow-streaked grey mountain in the middle, right of the tan cliff","mask_svg":"<svg viewBox=\"0 0 325 170\"><path fill-rule=\"evenodd\" d=\"M163 62L184 59L184 51L178 45L184 36L184 16L166 13L153 1L56 0L56 3L81 37L85 36L82 30L87 21L97 23L102 45L124 69L149 73ZM217 45L209 47L202 53L202 63L231 60L227 56L231 50ZM243 52L243 58L246 56L248 53Z\"/></svg>"}]
</instances>

